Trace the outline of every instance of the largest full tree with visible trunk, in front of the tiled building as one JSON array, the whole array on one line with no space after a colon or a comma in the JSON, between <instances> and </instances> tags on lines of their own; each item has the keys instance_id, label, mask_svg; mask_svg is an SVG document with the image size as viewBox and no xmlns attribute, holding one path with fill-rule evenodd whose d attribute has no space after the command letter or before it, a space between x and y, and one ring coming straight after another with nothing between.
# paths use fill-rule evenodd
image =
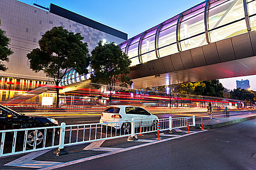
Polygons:
<instances>
[{"instance_id":1,"label":"largest full tree with visible trunk, in front of the tiled building","mask_svg":"<svg viewBox=\"0 0 256 170\"><path fill-rule=\"evenodd\" d=\"M88 73L90 55L87 43L82 40L80 33L74 34L63 27L53 27L42 35L39 48L27 54L32 70L42 70L47 77L54 79L56 107L59 107L59 83L66 72L73 68L79 74Z\"/></svg>"}]
</instances>

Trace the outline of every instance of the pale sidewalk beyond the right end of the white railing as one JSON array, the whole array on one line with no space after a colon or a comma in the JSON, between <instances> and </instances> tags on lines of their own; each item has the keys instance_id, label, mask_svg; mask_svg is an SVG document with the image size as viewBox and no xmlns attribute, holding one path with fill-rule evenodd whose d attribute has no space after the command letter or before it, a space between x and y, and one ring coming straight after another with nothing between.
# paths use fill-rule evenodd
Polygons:
<instances>
[{"instance_id":1,"label":"pale sidewalk beyond the right end of the white railing","mask_svg":"<svg viewBox=\"0 0 256 170\"><path fill-rule=\"evenodd\" d=\"M250 119L256 119L256 114L254 113L248 113L245 115L238 115L238 116L232 116L230 118L213 118L213 120L209 120L209 118L203 118L203 128L204 129L213 129L218 128L234 123L238 123L241 121L246 121ZM201 126L201 119L196 119L196 127L200 128Z\"/></svg>"}]
</instances>

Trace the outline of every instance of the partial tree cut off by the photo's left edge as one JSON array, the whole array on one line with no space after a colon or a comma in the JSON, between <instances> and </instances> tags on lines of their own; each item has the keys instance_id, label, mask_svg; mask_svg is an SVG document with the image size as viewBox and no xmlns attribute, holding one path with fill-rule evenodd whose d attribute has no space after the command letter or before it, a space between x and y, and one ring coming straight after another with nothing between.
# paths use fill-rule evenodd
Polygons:
<instances>
[{"instance_id":1,"label":"partial tree cut off by the photo's left edge","mask_svg":"<svg viewBox=\"0 0 256 170\"><path fill-rule=\"evenodd\" d=\"M0 20L1 26L1 20ZM6 71L8 68L2 63L3 61L9 62L8 56L10 56L13 51L8 48L10 45L11 40L5 35L5 31L0 29L0 70Z\"/></svg>"}]
</instances>

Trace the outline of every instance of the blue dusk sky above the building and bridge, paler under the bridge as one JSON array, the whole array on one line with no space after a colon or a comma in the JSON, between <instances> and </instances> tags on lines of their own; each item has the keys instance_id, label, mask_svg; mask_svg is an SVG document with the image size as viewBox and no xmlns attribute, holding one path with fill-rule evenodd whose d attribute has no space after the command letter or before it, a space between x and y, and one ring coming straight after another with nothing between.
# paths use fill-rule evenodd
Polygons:
<instances>
[{"instance_id":1,"label":"blue dusk sky above the building and bridge, paler under the bridge","mask_svg":"<svg viewBox=\"0 0 256 170\"><path fill-rule=\"evenodd\" d=\"M37 3L60 7L88 17L128 34L131 38L177 14L197 5L203 0L19 0L27 4ZM256 76L222 79L228 89L236 88L236 80L250 80L256 90Z\"/></svg>"}]
</instances>

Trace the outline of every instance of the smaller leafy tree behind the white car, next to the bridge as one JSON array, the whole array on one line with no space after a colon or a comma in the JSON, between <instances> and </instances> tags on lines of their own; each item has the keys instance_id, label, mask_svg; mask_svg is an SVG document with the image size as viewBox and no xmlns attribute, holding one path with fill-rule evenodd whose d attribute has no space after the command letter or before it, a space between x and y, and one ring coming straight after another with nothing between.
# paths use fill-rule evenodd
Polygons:
<instances>
[{"instance_id":1,"label":"smaller leafy tree behind the white car, next to the bridge","mask_svg":"<svg viewBox=\"0 0 256 170\"><path fill-rule=\"evenodd\" d=\"M91 74L91 81L92 83L107 85L110 91L109 102L111 103L112 93L116 90L117 83L121 87L128 87L133 83L127 76L130 72L131 60L114 42L102 44L102 41L99 41L98 46L91 54L91 67L94 70Z\"/></svg>"}]
</instances>

